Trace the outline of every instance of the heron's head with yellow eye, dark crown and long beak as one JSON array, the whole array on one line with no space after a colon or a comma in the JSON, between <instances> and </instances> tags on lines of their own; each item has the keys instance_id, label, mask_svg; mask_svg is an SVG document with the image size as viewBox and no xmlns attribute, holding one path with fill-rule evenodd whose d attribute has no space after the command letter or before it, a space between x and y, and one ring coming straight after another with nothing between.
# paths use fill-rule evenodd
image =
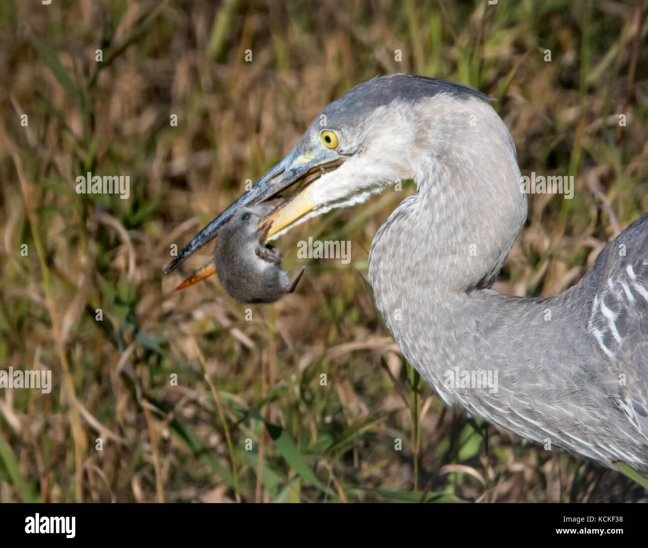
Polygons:
<instances>
[{"instance_id":1,"label":"heron's head with yellow eye, dark crown and long beak","mask_svg":"<svg viewBox=\"0 0 648 548\"><path fill-rule=\"evenodd\" d=\"M411 75L376 77L350 89L319 113L283 160L205 226L165 273L213 239L242 208L288 193L259 221L259 226L272 221L271 239L314 215L363 202L412 178L430 144L430 124L421 116L439 94L488 101L467 86Z\"/></svg>"}]
</instances>

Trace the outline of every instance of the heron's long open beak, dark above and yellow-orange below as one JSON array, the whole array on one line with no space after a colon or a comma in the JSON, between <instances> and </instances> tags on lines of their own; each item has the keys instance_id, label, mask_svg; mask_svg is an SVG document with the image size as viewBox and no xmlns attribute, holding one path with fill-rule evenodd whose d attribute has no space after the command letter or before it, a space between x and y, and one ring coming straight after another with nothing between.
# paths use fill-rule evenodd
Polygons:
<instances>
[{"instance_id":1,"label":"heron's long open beak, dark above and yellow-orange below","mask_svg":"<svg viewBox=\"0 0 648 548\"><path fill-rule=\"evenodd\" d=\"M227 224L241 209L269 200L288 187L307 178L310 174L318 173L319 171L325 173L325 171L341 165L344 160L346 160L345 156L340 156L333 150L325 149L321 152L302 153L297 148L293 149L275 167L264 174L251 189L240 195L225 211L198 232L178 256L168 264L167 268L165 268L165 274L169 274L175 270L187 257L214 239L220 228ZM306 215L314 208L314 205L310 183L308 183L290 196L277 209L272 211L270 215L262 219L259 222L259 226L268 220L272 220L272 226L266 238L272 237L303 215ZM207 274L208 272L209 274ZM210 274L213 274L213 272L213 263L207 263L198 272L183 281L176 289L182 289L183 287L192 285L192 283L196 283L196 281L203 280Z\"/></svg>"}]
</instances>

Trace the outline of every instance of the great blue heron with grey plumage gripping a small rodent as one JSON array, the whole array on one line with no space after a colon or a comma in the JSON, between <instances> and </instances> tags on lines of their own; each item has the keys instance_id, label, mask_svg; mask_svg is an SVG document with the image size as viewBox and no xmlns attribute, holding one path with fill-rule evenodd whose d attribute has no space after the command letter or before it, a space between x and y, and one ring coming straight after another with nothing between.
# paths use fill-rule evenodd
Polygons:
<instances>
[{"instance_id":1,"label":"great blue heron with grey plumage gripping a small rodent","mask_svg":"<svg viewBox=\"0 0 648 548\"><path fill-rule=\"evenodd\" d=\"M319 172L264 218L270 237L397 180L417 185L378 230L369 280L403 355L446 403L648 476L648 215L560 295L492 291L527 215L513 139L479 91L388 75L329 104L165 272L241 208ZM496 390L470 382L484 371L497 375Z\"/></svg>"}]
</instances>

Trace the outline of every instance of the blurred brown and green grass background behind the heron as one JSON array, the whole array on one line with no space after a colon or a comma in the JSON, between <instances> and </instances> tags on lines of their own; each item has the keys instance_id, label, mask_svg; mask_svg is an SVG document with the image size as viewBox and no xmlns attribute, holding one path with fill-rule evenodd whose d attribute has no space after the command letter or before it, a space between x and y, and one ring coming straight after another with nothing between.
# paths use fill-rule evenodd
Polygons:
<instances>
[{"instance_id":1,"label":"blurred brown and green grass background behind the heron","mask_svg":"<svg viewBox=\"0 0 648 548\"><path fill-rule=\"evenodd\" d=\"M573 200L529 196L494 287L564 291L648 210L647 29L643 1L3 0L0 364L53 388L0 390L0 500L647 501L486 437L404 363L363 278L411 184L284 235L307 272L251 321L215 278L162 276L324 106L404 72L493 95L522 174L575 176ZM87 172L130 198L78 195ZM351 264L298 261L307 235L351 241Z\"/></svg>"}]
</instances>

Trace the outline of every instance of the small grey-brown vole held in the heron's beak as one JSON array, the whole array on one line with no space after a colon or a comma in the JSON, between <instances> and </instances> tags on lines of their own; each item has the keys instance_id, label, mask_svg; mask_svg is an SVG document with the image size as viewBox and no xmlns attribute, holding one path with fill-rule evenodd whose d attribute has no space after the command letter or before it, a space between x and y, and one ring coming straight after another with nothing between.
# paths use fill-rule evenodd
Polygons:
<instances>
[{"instance_id":1,"label":"small grey-brown vole held in the heron's beak","mask_svg":"<svg viewBox=\"0 0 648 548\"><path fill-rule=\"evenodd\" d=\"M304 269L291 282L281 270L281 252L262 244L270 221L259 228L259 220L275 208L272 202L245 208L218 232L214 264L218 279L229 296L243 303L270 303L292 293Z\"/></svg>"}]
</instances>

